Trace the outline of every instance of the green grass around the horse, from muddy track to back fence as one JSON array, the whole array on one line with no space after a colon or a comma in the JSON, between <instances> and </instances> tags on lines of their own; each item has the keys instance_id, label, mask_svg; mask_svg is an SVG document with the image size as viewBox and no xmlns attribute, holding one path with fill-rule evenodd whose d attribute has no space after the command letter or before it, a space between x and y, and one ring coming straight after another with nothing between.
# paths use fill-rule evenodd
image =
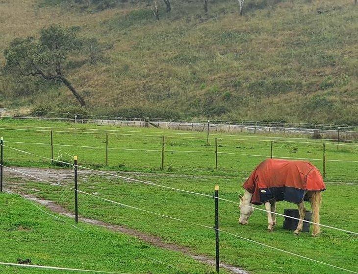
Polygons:
<instances>
[{"instance_id":1,"label":"green grass around the horse, from muddy track to back fence","mask_svg":"<svg viewBox=\"0 0 358 274\"><path fill-rule=\"evenodd\" d=\"M40 123L37 121L1 121L3 126L47 126L47 127L73 127L73 124L65 123ZM1 126L0 126L1 127ZM109 146L113 148L153 149L155 151L141 150L110 150L109 166L104 165L105 139L103 134L56 133L54 143L72 144L81 146L102 146L101 149L89 149L78 147L61 147L62 153L66 151L71 155L79 156L79 164L98 168L123 172L125 176L148 180L180 189L196 191L212 195L214 185L220 185L220 197L232 201L238 200L238 194L243 193L241 187L244 178L252 171L264 157L244 156L269 155L270 142L264 141L233 141L225 140L226 135L211 134L211 137L219 137L218 149L222 152L235 152L237 154L219 154L219 170L215 171L215 155L213 143L210 139L206 145L205 134L195 135L204 139L176 138L177 131L164 131L157 129L141 128L114 128L99 127L94 125L80 125L88 131L89 128L107 130L131 130L136 135L109 135ZM1 127L1 135L5 137L5 143L10 141L33 141L49 143L49 131L14 131L4 130ZM69 131L72 131L71 129ZM127 132L128 133L128 132ZM161 136L167 137L166 150L182 152L166 152L164 170L160 170L161 162ZM148 136L157 135L157 136ZM193 134L181 134L180 136L193 137ZM246 139L258 139L262 137L246 134ZM267 136L264 139L270 139ZM233 138L230 136L230 138ZM236 138L236 137L234 137ZM244 138L244 137L240 137ZM282 139L294 140L294 139ZM297 141L307 141L296 139ZM310 141L310 140L309 140ZM312 140L315 142L315 140ZM316 141L317 142L317 141ZM318 140L320 142L320 140ZM35 146L28 144L12 143L17 147L49 157L48 145ZM173 148L173 149L171 149ZM56 153L58 151L56 147ZM189 153L185 151L200 151L201 153ZM295 151L295 152L293 152ZM55 155L56 155L55 153ZM274 155L318 158L322 155L322 144L303 144L291 142L275 142ZM5 147L5 164L35 167L53 167L48 160L39 159L22 153L15 153ZM357 149L354 146L341 146L337 151L336 144L327 142L327 159L357 160ZM71 160L71 159L70 159ZM322 170L322 161L312 161ZM124 166L122 166L124 165ZM323 192L323 204L321 208L321 223L351 231L358 230L356 212L358 209L357 196L357 163L327 162L327 190ZM129 206L136 206L149 211L165 214L186 221L213 226L214 225L214 200L207 197L194 196L142 183L125 182L118 178L108 176L85 176L79 169L79 189L117 201ZM16 183L15 179L5 179L6 184ZM51 180L56 182L56 178ZM336 181L336 183L332 183ZM346 182L346 183L345 183ZM72 187L72 183L67 184ZM51 186L47 183L27 181L26 191L42 198L55 201L69 210L74 208L73 191L60 186ZM278 212L283 213L284 208L295 207L293 204L280 202ZM307 209L310 206L307 204ZM162 237L165 241L190 247L197 253L214 256L215 238L213 229L202 228L178 221L158 217L150 213L143 213L127 207L110 204L95 197L79 194L79 213L83 216L96 218L112 224L125 225L143 232ZM248 226L238 225L238 208L234 204L220 201L220 227L221 229L240 235L242 237L258 241L285 251L294 252L322 262L330 263L342 268L358 271L357 237L333 230L322 228L319 237L313 238L309 233L295 236L292 231L282 229L283 219L278 217L278 225L274 232L269 233L267 217L264 212L256 210L249 221ZM244 268L252 274L304 274L304 273L345 273L344 271L307 261L277 250L262 247L248 241L221 233L220 242L221 260Z\"/></svg>"}]
</instances>

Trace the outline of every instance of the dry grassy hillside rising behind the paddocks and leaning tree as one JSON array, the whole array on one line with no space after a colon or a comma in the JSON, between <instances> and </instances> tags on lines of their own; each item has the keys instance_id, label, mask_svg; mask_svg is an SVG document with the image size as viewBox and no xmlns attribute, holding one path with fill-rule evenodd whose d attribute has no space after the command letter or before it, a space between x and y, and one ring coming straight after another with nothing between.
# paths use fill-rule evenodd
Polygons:
<instances>
[{"instance_id":1,"label":"dry grassy hillside rising behind the paddocks and leaning tree","mask_svg":"<svg viewBox=\"0 0 358 274\"><path fill-rule=\"evenodd\" d=\"M63 2L1 1L0 50L50 23L96 36L102 60L67 68L89 112L358 123L353 0L247 0L242 17L233 0L209 1L207 15L201 1L172 1L169 14L159 1L159 21L138 1L100 11ZM0 102L77 105L66 87L7 75Z\"/></svg>"}]
</instances>

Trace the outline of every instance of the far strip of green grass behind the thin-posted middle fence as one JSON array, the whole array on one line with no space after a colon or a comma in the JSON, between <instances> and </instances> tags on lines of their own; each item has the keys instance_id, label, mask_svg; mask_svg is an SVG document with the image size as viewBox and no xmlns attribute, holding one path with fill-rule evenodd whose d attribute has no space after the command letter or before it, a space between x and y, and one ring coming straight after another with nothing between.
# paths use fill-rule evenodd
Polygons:
<instances>
[{"instance_id":1,"label":"far strip of green grass behind the thin-posted middle fence","mask_svg":"<svg viewBox=\"0 0 358 274\"><path fill-rule=\"evenodd\" d=\"M26 130L24 130L26 129ZM323 142L326 143L326 181L357 181L358 145L295 136L240 135L184 132L136 127L113 127L36 120L0 120L0 135L4 143L21 150L51 158L51 129L53 154L61 160L97 168L122 171L162 172L162 136L165 136L164 171L169 173L203 174L246 177L262 160L270 157L308 158L323 173ZM108 166L106 162L106 133L108 134ZM218 171L215 166L215 137L218 144ZM41 143L41 144L25 144ZM306 143L309 142L309 143ZM78 147L85 146L85 147ZM4 148L4 160L9 165L51 166L48 160ZM331 160L347 160L341 162ZM356 161L356 162L354 162ZM349 170L349 172L347 172Z\"/></svg>"}]
</instances>

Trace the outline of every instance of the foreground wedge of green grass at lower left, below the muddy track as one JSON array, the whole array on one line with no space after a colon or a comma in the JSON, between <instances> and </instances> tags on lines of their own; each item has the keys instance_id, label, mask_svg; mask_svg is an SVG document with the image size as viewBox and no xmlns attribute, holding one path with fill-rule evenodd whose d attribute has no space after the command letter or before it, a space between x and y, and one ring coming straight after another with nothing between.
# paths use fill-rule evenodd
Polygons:
<instances>
[{"instance_id":1,"label":"foreground wedge of green grass at lower left, below the muddy track","mask_svg":"<svg viewBox=\"0 0 358 274\"><path fill-rule=\"evenodd\" d=\"M79 223L77 230L18 195L0 194L0 261L133 274L209 274L213 268L179 252L155 248L122 233ZM48 211L46 208L44 210ZM73 221L60 216L69 223ZM75 271L0 266L1 274L75 274ZM225 271L224 271L225 273Z\"/></svg>"}]
</instances>

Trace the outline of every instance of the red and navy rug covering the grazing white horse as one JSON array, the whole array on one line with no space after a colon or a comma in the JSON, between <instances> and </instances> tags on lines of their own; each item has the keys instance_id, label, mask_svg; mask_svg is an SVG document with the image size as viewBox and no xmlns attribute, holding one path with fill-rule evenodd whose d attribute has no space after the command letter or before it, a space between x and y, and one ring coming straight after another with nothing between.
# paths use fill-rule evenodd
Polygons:
<instances>
[{"instance_id":1,"label":"red and navy rug covering the grazing white horse","mask_svg":"<svg viewBox=\"0 0 358 274\"><path fill-rule=\"evenodd\" d=\"M261 205L273 199L301 203L307 191L323 191L318 168L307 161L267 159L261 162L243 187L253 194L251 203Z\"/></svg>"}]
</instances>

